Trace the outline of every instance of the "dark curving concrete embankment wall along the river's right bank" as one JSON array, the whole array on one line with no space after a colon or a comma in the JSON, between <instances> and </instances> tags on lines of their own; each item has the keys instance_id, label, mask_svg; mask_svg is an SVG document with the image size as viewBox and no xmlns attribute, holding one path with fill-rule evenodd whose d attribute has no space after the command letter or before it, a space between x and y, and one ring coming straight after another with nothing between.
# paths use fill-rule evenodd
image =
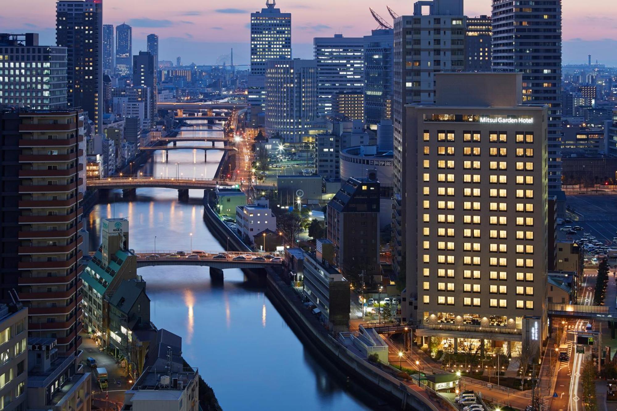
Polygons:
<instances>
[{"instance_id":1,"label":"dark curving concrete embankment wall along the river's right bank","mask_svg":"<svg viewBox=\"0 0 617 411\"><path fill-rule=\"evenodd\" d=\"M218 218L209 202L204 201L204 203L204 220L212 230L212 234L223 243L229 241L230 249L233 247L235 251L249 251L249 247L242 243L241 239ZM361 359L337 342L317 318L312 317L304 308L289 285L289 281L285 281L284 278L284 274L279 275L271 268L267 270L268 297L304 344L308 344L320 355L326 357L339 373L342 372L353 378L369 392L396 407L418 411L438 410L419 392L408 388L401 381Z\"/></svg>"}]
</instances>

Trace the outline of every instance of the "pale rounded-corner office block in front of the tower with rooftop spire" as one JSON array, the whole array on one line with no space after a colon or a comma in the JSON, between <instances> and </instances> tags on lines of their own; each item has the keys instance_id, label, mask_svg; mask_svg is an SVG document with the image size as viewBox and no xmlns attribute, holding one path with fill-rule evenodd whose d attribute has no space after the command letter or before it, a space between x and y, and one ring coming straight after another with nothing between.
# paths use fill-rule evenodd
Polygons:
<instances>
[{"instance_id":1,"label":"pale rounded-corner office block in front of the tower with rooftop spire","mask_svg":"<svg viewBox=\"0 0 617 411\"><path fill-rule=\"evenodd\" d=\"M278 134L286 143L300 143L300 137L317 115L315 61L269 60L265 90L266 135Z\"/></svg>"}]
</instances>

